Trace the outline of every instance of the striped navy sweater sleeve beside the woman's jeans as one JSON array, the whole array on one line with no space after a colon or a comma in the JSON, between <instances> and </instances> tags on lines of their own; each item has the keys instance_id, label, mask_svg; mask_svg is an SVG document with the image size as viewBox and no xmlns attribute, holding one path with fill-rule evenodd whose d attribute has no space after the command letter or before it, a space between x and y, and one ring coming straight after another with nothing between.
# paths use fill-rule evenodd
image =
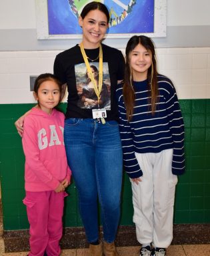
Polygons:
<instances>
[{"instance_id":1,"label":"striped navy sweater sleeve beside the woman's jeans","mask_svg":"<svg viewBox=\"0 0 210 256\"><path fill-rule=\"evenodd\" d=\"M126 109L123 102L123 89L117 89L117 101L119 111L119 132L123 148L123 164L126 173L131 179L141 177L143 175L139 163L135 157L135 148L133 146L133 136L129 122L126 117Z\"/></svg>"}]
</instances>

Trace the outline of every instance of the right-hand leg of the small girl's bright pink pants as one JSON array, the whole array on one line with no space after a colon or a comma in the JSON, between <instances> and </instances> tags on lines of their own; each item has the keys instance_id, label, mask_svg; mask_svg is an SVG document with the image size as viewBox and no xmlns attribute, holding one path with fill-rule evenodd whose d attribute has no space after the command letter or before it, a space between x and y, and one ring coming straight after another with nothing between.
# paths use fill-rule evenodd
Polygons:
<instances>
[{"instance_id":1,"label":"right-hand leg of the small girl's bright pink pants","mask_svg":"<svg viewBox=\"0 0 210 256\"><path fill-rule=\"evenodd\" d=\"M65 192L55 193L51 191L49 199L49 218L48 218L48 234L47 256L58 256L61 253L59 241L63 235L63 205Z\"/></svg>"}]
</instances>

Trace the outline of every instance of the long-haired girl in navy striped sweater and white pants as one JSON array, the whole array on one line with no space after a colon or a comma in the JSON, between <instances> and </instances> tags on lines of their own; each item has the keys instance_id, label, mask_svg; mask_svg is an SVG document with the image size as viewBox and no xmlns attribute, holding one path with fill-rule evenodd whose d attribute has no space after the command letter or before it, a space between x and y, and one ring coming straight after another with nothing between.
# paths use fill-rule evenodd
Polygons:
<instances>
[{"instance_id":1,"label":"long-haired girl in navy striped sweater and white pants","mask_svg":"<svg viewBox=\"0 0 210 256\"><path fill-rule=\"evenodd\" d=\"M183 118L173 83L157 73L153 41L133 36L125 53L125 79L117 100L133 222L140 255L165 256L173 239L177 175L185 170Z\"/></svg>"}]
</instances>

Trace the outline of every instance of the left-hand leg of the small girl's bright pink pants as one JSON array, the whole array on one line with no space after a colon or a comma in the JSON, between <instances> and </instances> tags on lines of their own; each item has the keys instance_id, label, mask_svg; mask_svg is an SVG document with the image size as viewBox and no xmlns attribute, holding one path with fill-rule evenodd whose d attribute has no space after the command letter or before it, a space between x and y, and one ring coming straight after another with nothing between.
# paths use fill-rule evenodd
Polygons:
<instances>
[{"instance_id":1,"label":"left-hand leg of the small girl's bright pink pants","mask_svg":"<svg viewBox=\"0 0 210 256\"><path fill-rule=\"evenodd\" d=\"M27 206L29 229L29 256L43 256L47 247L49 235L47 231L49 196L51 191L26 191L23 203Z\"/></svg>"}]
</instances>

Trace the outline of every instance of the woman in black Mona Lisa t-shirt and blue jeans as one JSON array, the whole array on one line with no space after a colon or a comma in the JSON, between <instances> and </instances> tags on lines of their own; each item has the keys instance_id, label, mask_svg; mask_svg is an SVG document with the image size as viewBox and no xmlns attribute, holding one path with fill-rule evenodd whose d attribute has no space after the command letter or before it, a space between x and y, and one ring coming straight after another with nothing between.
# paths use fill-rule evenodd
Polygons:
<instances>
[{"instance_id":1,"label":"woman in black Mona Lisa t-shirt and blue jeans","mask_svg":"<svg viewBox=\"0 0 210 256\"><path fill-rule=\"evenodd\" d=\"M124 58L121 51L101 44L108 24L109 11L103 3L93 1L85 5L79 17L79 25L83 29L81 43L59 53L54 63L55 75L67 85L69 92L65 148L79 195L79 209L91 256L103 253L99 241L97 199L101 205L103 251L105 256L118 255L114 241L120 216L123 161L115 87L123 79ZM99 69L98 86L91 76L89 62ZM98 101L103 81L110 85L110 100L105 109L100 109L99 104L92 109L79 107L81 89L77 90L77 85L85 77L86 69L96 85ZM22 120L15 123L20 134Z\"/></svg>"}]
</instances>

